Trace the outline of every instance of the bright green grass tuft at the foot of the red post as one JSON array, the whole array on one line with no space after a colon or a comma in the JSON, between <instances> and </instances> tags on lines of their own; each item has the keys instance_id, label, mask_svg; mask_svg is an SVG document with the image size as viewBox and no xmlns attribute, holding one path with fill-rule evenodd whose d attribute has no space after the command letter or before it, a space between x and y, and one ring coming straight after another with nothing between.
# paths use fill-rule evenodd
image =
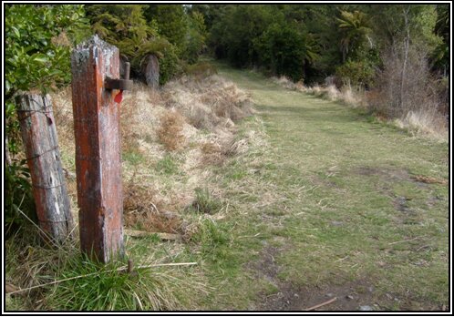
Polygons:
<instances>
[{"instance_id":1,"label":"bright green grass tuft at the foot of the red post","mask_svg":"<svg viewBox=\"0 0 454 317\"><path fill-rule=\"evenodd\" d=\"M98 265L72 259L51 290L47 304L68 311L160 311L175 310L179 301L174 291L185 284L171 274L156 269L121 270L125 263Z\"/></svg>"}]
</instances>

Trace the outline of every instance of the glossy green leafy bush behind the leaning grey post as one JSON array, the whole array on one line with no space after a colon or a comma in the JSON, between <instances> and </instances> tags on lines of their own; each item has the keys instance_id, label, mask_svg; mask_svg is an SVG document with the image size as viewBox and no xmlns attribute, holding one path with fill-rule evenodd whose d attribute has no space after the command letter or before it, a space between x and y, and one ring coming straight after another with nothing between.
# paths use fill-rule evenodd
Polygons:
<instances>
[{"instance_id":1,"label":"glossy green leafy bush behind the leaning grey post","mask_svg":"<svg viewBox=\"0 0 454 317\"><path fill-rule=\"evenodd\" d=\"M7 155L5 224L20 224L18 209L32 216L33 199L21 151L15 95L43 93L70 82L70 46L88 35L82 5L5 5L5 126Z\"/></svg>"}]
</instances>

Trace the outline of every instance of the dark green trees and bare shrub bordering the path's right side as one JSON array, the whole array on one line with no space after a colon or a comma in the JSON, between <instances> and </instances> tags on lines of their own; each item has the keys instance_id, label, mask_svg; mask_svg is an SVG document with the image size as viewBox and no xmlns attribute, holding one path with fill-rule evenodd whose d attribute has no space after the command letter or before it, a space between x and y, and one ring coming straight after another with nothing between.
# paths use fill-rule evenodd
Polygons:
<instances>
[{"instance_id":1,"label":"dark green trees and bare shrub bordering the path's right side","mask_svg":"<svg viewBox=\"0 0 454 317\"><path fill-rule=\"evenodd\" d=\"M209 44L233 66L307 86L371 91L379 116L447 130L448 5L194 5ZM415 108L416 107L416 108Z\"/></svg>"}]
</instances>

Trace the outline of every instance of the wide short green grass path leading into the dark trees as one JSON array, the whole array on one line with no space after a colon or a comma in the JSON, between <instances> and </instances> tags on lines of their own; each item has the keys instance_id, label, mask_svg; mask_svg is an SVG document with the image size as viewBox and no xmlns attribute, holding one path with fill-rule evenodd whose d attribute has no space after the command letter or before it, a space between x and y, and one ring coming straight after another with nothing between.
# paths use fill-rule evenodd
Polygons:
<instances>
[{"instance_id":1,"label":"wide short green grass path leading into the dark trees","mask_svg":"<svg viewBox=\"0 0 454 317\"><path fill-rule=\"evenodd\" d=\"M217 170L230 206L220 226L232 239L204 255L216 291L201 305L448 306L448 145L253 72L221 66L220 75L251 93L269 147Z\"/></svg>"}]
</instances>

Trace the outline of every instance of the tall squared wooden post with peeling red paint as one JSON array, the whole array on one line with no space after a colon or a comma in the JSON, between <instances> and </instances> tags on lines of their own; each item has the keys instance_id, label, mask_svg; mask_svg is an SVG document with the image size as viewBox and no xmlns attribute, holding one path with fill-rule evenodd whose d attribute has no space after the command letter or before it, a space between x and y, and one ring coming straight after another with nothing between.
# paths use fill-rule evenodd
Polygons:
<instances>
[{"instance_id":1,"label":"tall squared wooden post with peeling red paint","mask_svg":"<svg viewBox=\"0 0 454 317\"><path fill-rule=\"evenodd\" d=\"M90 257L108 262L124 253L119 90L119 49L93 36L71 56L77 203L80 244Z\"/></svg>"}]
</instances>

